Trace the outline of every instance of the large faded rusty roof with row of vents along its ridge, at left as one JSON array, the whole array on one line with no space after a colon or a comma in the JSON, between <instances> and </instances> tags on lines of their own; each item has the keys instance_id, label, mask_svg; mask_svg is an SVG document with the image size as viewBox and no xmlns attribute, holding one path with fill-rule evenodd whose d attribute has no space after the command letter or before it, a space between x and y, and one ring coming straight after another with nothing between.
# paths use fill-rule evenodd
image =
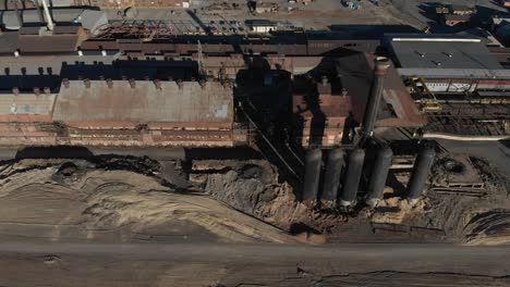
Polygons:
<instances>
[{"instance_id":1,"label":"large faded rusty roof with row of vents along its ridge, at left","mask_svg":"<svg viewBox=\"0 0 510 287\"><path fill-rule=\"evenodd\" d=\"M61 87L53 120L62 122L233 122L232 88L208 82L70 80Z\"/></svg>"}]
</instances>

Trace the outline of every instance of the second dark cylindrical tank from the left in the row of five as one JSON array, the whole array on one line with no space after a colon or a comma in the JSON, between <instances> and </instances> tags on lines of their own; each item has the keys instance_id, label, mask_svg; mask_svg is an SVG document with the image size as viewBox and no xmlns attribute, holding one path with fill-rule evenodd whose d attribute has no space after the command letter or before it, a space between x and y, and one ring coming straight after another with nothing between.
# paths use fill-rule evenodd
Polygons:
<instances>
[{"instance_id":1,"label":"second dark cylindrical tank from the left in the row of five","mask_svg":"<svg viewBox=\"0 0 510 287\"><path fill-rule=\"evenodd\" d=\"M329 151L328 161L326 163L326 173L324 175L323 201L337 200L344 155L345 152L342 149L337 148Z\"/></svg>"}]
</instances>

